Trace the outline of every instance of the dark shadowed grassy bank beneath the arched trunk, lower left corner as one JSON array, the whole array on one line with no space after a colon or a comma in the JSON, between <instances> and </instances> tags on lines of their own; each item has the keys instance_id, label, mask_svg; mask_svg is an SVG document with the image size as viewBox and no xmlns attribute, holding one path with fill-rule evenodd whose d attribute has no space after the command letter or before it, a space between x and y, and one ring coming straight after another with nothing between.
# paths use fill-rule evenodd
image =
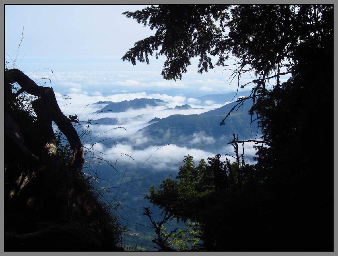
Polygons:
<instances>
[{"instance_id":1,"label":"dark shadowed grassy bank beneath the arched trunk, lower left corner","mask_svg":"<svg viewBox=\"0 0 338 256\"><path fill-rule=\"evenodd\" d=\"M8 71L3 176L5 251L119 250L122 228L111 214L111 207L94 192L89 177L81 170L69 176L75 155L71 146L61 142L61 132L53 132L51 120L52 140L46 143L46 129L31 106L35 98L9 82ZM55 147L48 150L49 145Z\"/></svg>"}]
</instances>

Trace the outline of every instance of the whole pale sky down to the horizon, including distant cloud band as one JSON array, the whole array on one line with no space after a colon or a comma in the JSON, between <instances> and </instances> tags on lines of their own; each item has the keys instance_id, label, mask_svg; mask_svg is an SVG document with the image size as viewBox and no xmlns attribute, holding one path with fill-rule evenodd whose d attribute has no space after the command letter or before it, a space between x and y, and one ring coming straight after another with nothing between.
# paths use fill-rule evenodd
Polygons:
<instances>
[{"instance_id":1,"label":"whole pale sky down to the horizon, including distant cloud band","mask_svg":"<svg viewBox=\"0 0 338 256\"><path fill-rule=\"evenodd\" d=\"M227 81L230 71L222 74L221 67L206 74L198 74L197 59L192 60L193 64L188 68L188 73L183 75L183 80L177 82L162 78L163 57L159 60L150 58L150 65L137 62L136 66L132 66L130 62L123 62L121 57L125 52L136 41L154 31L133 19L127 19L121 12L144 7L6 5L5 52L10 58L15 58L24 27L17 68L27 75L36 71L31 75L32 79L49 77L54 91L61 94L108 96L147 89L161 91L175 88L172 94L182 91L187 97L197 97L237 89L236 82L229 85ZM13 62L6 54L10 67ZM52 69L54 74L47 68ZM249 75L243 76L241 83L251 80ZM42 85L46 81L40 79L38 82ZM248 89L249 86L245 87L245 90Z\"/></svg>"}]
</instances>

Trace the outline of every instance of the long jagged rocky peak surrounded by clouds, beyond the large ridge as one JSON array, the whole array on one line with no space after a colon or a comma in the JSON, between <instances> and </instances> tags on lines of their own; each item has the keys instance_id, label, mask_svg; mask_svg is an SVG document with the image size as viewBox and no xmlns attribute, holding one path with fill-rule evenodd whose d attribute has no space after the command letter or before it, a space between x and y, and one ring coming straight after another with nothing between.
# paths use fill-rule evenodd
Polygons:
<instances>
[{"instance_id":1,"label":"long jagged rocky peak surrounded by clouds, beyond the large ridge","mask_svg":"<svg viewBox=\"0 0 338 256\"><path fill-rule=\"evenodd\" d=\"M98 102L98 103L108 103L108 105L104 106L102 109L95 111L94 113L98 113L101 111L112 111L112 112L123 112L129 108L140 109L145 108L147 106L165 106L166 102L160 99L134 99L134 100L124 100L121 102Z\"/></svg>"}]
</instances>

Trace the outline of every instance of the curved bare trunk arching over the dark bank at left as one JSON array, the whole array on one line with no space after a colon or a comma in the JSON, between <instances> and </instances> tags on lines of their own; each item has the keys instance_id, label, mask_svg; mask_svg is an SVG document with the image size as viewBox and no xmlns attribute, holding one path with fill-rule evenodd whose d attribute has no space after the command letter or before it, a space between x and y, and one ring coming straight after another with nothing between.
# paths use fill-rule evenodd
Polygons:
<instances>
[{"instance_id":1,"label":"curved bare trunk arching over the dark bank at left","mask_svg":"<svg viewBox=\"0 0 338 256\"><path fill-rule=\"evenodd\" d=\"M69 163L71 175L77 176L79 172L82 170L84 163L82 144L75 128L71 123L71 120L68 119L59 108L53 88L42 87L37 85L33 80L31 80L28 76L26 76L23 72L21 72L18 69L10 69L5 71L5 78L8 79L6 82L18 83L24 91L40 98L34 101L35 103L33 103L34 110L39 112L37 113L38 119L39 116L40 117L46 116L47 119L54 121L55 124L60 129L60 131L63 134L65 134L74 152L74 157L71 163ZM41 120L43 120L43 118ZM50 127L48 127L49 123ZM47 125L47 120L45 122L45 125ZM46 126L46 129L50 130L52 127L51 122L49 121L48 126ZM50 149L53 148L54 146L56 148L56 145L53 144L53 141L50 141L50 143L51 143L49 145L50 147L47 146L46 149L48 153L53 154L53 151L51 151Z\"/></svg>"}]
</instances>

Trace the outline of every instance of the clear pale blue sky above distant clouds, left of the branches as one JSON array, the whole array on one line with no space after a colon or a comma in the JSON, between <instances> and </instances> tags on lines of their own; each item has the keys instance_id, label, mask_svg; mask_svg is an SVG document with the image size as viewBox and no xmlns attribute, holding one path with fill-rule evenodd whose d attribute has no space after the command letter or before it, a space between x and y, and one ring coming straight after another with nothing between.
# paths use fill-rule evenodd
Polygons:
<instances>
[{"instance_id":1,"label":"clear pale blue sky above distant clouds, left of the branches","mask_svg":"<svg viewBox=\"0 0 338 256\"><path fill-rule=\"evenodd\" d=\"M109 70L109 63L120 60L135 41L153 33L121 15L122 11L142 7L6 5L5 51L11 57L15 56L24 26L19 54L21 57L25 54L20 63L22 67L33 65L41 68L43 63L62 71L69 71L69 68L78 71L93 68ZM122 61L119 62L121 66ZM27 68L30 69L29 66Z\"/></svg>"}]
</instances>

